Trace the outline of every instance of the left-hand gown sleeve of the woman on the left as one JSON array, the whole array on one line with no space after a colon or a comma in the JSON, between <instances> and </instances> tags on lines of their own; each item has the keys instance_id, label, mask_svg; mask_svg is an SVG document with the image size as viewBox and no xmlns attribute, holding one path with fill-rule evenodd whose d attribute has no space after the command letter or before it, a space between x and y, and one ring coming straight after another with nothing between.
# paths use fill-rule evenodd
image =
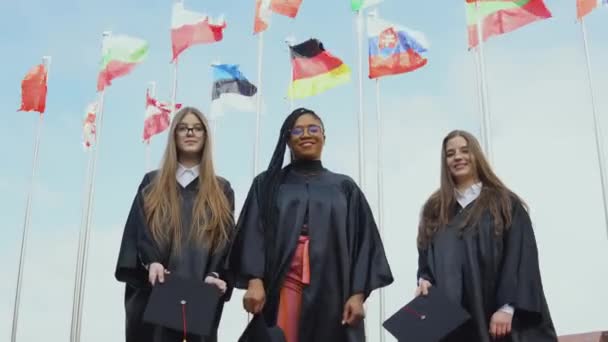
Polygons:
<instances>
[{"instance_id":1,"label":"left-hand gown sleeve of the woman on the left","mask_svg":"<svg viewBox=\"0 0 608 342\"><path fill-rule=\"evenodd\" d=\"M141 228L145 227L143 190L150 184L151 178L151 173L146 174L137 189L137 194L131 205L123 231L118 261L114 272L116 280L128 283L133 287L148 285L148 271L144 268L138 253L138 234L140 234Z\"/></svg>"}]
</instances>

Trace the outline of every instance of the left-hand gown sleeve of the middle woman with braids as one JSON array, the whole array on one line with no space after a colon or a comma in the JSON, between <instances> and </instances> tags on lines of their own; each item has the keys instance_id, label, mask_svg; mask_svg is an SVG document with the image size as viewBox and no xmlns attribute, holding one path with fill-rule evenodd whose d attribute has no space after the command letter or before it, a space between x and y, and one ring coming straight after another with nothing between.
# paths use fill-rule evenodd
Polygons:
<instances>
[{"instance_id":1,"label":"left-hand gown sleeve of the middle woman with braids","mask_svg":"<svg viewBox=\"0 0 608 342\"><path fill-rule=\"evenodd\" d=\"M263 279L265 269L264 231L261 223L259 193L261 175L253 180L236 224L229 256L235 286L246 289L250 279Z\"/></svg>"}]
</instances>

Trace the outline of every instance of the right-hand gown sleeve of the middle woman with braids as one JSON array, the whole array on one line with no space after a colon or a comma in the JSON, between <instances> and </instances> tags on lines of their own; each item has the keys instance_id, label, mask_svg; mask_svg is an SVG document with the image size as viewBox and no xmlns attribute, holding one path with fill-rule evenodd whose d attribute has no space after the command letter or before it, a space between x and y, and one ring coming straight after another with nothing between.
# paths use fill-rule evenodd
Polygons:
<instances>
[{"instance_id":1,"label":"right-hand gown sleeve of the middle woman with braids","mask_svg":"<svg viewBox=\"0 0 608 342\"><path fill-rule=\"evenodd\" d=\"M367 298L372 291L391 284L393 275L365 195L354 181L349 183L348 220L355 235L350 295L361 293Z\"/></svg>"}]
</instances>

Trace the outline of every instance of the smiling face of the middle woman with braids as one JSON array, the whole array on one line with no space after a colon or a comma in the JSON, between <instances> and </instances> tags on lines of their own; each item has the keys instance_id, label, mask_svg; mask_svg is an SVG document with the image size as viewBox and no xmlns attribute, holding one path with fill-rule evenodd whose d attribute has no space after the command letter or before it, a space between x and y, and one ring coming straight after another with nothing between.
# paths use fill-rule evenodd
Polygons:
<instances>
[{"instance_id":1,"label":"smiling face of the middle woman with braids","mask_svg":"<svg viewBox=\"0 0 608 342\"><path fill-rule=\"evenodd\" d=\"M311 114L296 120L291 129L289 148L296 160L319 160L325 145L323 124Z\"/></svg>"}]
</instances>

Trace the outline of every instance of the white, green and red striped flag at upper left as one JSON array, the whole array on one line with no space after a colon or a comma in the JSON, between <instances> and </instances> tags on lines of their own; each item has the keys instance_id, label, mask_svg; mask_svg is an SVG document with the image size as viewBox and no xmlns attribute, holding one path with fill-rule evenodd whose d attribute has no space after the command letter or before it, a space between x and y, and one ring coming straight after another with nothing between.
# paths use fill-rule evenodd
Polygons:
<instances>
[{"instance_id":1,"label":"white, green and red striped flag at upper left","mask_svg":"<svg viewBox=\"0 0 608 342\"><path fill-rule=\"evenodd\" d=\"M130 73L147 55L148 43L145 40L125 35L110 36L104 39L97 91L102 91L111 85L115 78Z\"/></svg>"}]
</instances>

